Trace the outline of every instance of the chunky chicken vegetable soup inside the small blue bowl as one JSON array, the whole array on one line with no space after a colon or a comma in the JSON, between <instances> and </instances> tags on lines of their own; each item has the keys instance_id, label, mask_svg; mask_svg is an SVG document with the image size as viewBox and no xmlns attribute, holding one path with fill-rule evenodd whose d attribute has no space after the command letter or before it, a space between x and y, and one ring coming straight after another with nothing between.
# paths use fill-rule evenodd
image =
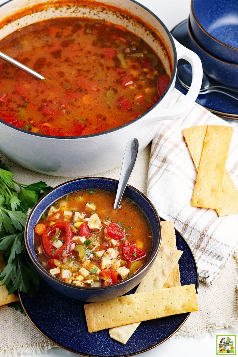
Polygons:
<instances>
[{"instance_id":1,"label":"chunky chicken vegetable soup inside the small blue bowl","mask_svg":"<svg viewBox=\"0 0 238 357\"><path fill-rule=\"evenodd\" d=\"M148 219L128 198L123 197L118 210L113 208L114 201L114 192L92 189L55 202L37 223L41 230L45 226L42 234L35 227L39 234L34 235L34 247L42 266L62 281L87 287L112 285L143 266L153 239ZM101 227L92 230L88 219L95 214ZM62 241L59 248L52 245L55 236Z\"/></svg>"}]
</instances>

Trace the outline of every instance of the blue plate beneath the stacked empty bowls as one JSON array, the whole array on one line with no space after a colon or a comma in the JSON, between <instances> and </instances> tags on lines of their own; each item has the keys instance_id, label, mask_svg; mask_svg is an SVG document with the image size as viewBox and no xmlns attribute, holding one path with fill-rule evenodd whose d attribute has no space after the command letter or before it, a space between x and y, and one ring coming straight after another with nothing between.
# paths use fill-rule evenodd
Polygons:
<instances>
[{"instance_id":1,"label":"blue plate beneath the stacked empty bowls","mask_svg":"<svg viewBox=\"0 0 238 357\"><path fill-rule=\"evenodd\" d=\"M189 48L187 20L184 20L175 26L173 30L171 30L171 34L179 43L181 43L181 45ZM179 60L178 66L184 63L188 62L185 60ZM213 84L219 85L219 83L213 79L210 80ZM187 93L186 89L181 86L178 79L176 80L175 87L183 94ZM224 119L238 119L238 101L228 97L227 95L217 92L202 94L197 97L196 102L213 112L213 114L216 114Z\"/></svg>"}]
</instances>

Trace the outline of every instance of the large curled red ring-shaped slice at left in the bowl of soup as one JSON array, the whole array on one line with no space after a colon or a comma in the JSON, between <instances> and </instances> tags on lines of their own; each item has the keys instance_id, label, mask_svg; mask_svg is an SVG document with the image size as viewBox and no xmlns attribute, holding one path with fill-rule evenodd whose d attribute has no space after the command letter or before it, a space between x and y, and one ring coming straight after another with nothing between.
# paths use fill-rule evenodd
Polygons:
<instances>
[{"instance_id":1,"label":"large curled red ring-shaped slice at left in the bowl of soup","mask_svg":"<svg viewBox=\"0 0 238 357\"><path fill-rule=\"evenodd\" d=\"M56 228L59 228L61 233L64 231L63 235L58 238L61 241L64 241L64 244L61 248L56 249L52 246L52 237L54 237L54 233ZM74 233L71 230L70 224L68 222L56 222L52 226L46 228L46 230L41 235L41 245L48 257L58 258L63 252L68 251L72 244L72 237L74 237Z\"/></svg>"}]
</instances>

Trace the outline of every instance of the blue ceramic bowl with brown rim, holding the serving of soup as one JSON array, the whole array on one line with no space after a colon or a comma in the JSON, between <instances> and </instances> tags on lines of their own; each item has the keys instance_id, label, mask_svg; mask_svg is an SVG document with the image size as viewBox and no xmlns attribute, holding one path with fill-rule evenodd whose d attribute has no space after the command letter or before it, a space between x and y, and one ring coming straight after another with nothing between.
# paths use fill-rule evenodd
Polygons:
<instances>
[{"instance_id":1,"label":"blue ceramic bowl with brown rim, holding the serving of soup","mask_svg":"<svg viewBox=\"0 0 238 357\"><path fill-rule=\"evenodd\" d=\"M67 181L46 193L46 195L44 195L32 208L27 218L25 228L25 243L27 252L29 253L33 265L36 267L42 278L44 278L44 280L50 286L70 298L95 302L110 300L112 298L121 296L140 283L142 278L145 277L147 272L150 270L150 267L152 266L157 256L162 237L161 221L159 219L158 213L156 212L155 207L146 198L146 196L143 195L143 193L138 191L136 188L127 185L124 196L130 198L130 200L134 201L142 209L148 218L153 233L153 243L150 256L148 257L146 264L143 265L141 270L139 270L134 276L131 276L130 278L111 286L95 288L80 287L70 285L52 276L42 267L38 261L33 245L34 227L38 222L39 217L41 217L42 213L45 212L45 210L50 207L52 203L67 195L68 193L87 188L114 191L116 196L117 186L117 180L102 177L79 178L76 180Z\"/></svg>"}]
</instances>

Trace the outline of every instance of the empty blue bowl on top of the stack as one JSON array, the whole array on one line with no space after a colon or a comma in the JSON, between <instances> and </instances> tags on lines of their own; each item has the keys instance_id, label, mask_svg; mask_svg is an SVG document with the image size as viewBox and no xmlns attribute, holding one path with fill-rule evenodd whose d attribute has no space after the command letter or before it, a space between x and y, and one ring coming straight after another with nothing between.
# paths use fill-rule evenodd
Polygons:
<instances>
[{"instance_id":1,"label":"empty blue bowl on top of the stack","mask_svg":"<svg viewBox=\"0 0 238 357\"><path fill-rule=\"evenodd\" d=\"M190 21L199 45L219 59L238 64L237 0L192 0Z\"/></svg>"}]
</instances>

